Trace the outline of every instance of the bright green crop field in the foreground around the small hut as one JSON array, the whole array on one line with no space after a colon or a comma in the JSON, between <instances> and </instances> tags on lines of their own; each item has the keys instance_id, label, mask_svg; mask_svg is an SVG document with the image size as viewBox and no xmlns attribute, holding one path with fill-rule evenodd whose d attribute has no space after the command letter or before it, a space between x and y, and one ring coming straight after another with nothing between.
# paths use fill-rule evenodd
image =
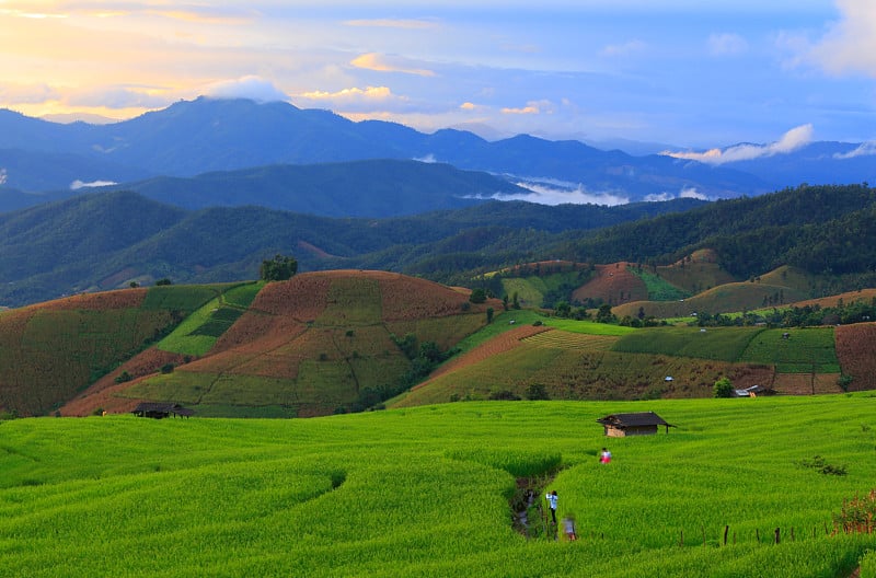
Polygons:
<instances>
[{"instance_id":1,"label":"bright green crop field in the foreground around the small hut","mask_svg":"<svg viewBox=\"0 0 876 578\"><path fill-rule=\"evenodd\" d=\"M602 436L636 411L678 427ZM872 393L12 420L0 576L848 576L876 536L827 534L876 486L874 426ZM577 542L511 527L515 478L557 460Z\"/></svg>"}]
</instances>

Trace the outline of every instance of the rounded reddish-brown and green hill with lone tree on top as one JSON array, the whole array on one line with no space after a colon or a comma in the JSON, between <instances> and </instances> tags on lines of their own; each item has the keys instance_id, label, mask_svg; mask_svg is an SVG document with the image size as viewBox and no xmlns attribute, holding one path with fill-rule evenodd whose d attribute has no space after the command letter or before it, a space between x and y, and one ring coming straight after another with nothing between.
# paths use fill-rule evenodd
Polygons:
<instances>
[{"instance_id":1,"label":"rounded reddish-brown and green hill with lone tree on top","mask_svg":"<svg viewBox=\"0 0 876 578\"><path fill-rule=\"evenodd\" d=\"M486 308L498 304L472 304L465 291L381 271L308 273L257 294L242 290L209 302L158 345L191 362L137 380L116 397L176 402L210 416L361 409L389 397L412 371L399 339L412 335L417 347L434 343L445 351L483 327ZM235 298L251 304L232 307Z\"/></svg>"}]
</instances>

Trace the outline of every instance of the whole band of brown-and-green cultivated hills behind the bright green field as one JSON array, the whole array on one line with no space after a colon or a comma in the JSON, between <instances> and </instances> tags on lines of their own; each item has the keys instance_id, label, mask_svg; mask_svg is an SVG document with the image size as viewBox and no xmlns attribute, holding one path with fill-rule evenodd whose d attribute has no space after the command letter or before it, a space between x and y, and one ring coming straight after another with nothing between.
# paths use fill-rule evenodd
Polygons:
<instances>
[{"instance_id":1,"label":"whole band of brown-and-green cultivated hills behind the bright green field","mask_svg":"<svg viewBox=\"0 0 876 578\"><path fill-rule=\"evenodd\" d=\"M872 293L844 299L869 303ZM873 322L637 330L469 296L355 269L0 312L0 412L124 413L152 401L201 416L318 416L382 402L520 398L533 385L562 400L711 397L722 377L777 393L876 389Z\"/></svg>"}]
</instances>

